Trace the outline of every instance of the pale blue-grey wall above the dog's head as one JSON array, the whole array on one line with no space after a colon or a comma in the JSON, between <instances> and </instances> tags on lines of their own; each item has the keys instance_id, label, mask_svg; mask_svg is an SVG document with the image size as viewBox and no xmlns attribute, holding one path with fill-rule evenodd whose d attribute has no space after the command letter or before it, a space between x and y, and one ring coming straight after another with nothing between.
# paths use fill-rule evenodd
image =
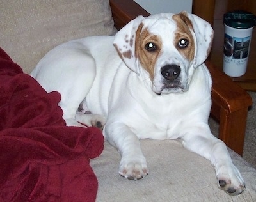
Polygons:
<instances>
[{"instance_id":1,"label":"pale blue-grey wall above the dog's head","mask_svg":"<svg viewBox=\"0 0 256 202\"><path fill-rule=\"evenodd\" d=\"M126 1L126 0L124 0ZM179 13L182 10L191 12L192 0L134 0L147 12L156 13Z\"/></svg>"}]
</instances>

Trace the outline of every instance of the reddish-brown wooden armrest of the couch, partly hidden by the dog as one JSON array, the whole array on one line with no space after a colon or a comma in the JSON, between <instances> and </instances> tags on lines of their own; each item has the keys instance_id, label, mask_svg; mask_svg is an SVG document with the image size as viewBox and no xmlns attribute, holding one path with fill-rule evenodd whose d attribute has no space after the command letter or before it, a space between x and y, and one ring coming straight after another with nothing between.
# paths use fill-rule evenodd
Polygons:
<instances>
[{"instance_id":1,"label":"reddish-brown wooden armrest of the couch, partly hidden by the dog","mask_svg":"<svg viewBox=\"0 0 256 202\"><path fill-rule=\"evenodd\" d=\"M110 6L117 29L138 15L150 15L132 0L110 0ZM220 122L219 138L242 155L247 112L252 98L212 63L207 61L206 65L213 79L211 115Z\"/></svg>"}]
</instances>

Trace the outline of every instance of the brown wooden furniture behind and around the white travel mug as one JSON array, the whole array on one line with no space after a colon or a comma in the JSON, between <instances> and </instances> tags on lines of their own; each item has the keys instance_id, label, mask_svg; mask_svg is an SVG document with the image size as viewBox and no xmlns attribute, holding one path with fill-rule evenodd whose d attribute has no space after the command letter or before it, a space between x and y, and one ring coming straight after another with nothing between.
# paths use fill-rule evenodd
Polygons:
<instances>
[{"instance_id":1,"label":"brown wooden furniture behind and around the white travel mug","mask_svg":"<svg viewBox=\"0 0 256 202\"><path fill-rule=\"evenodd\" d=\"M224 25L223 14L232 10L246 10L256 15L255 0L193 0L193 13L212 24L214 28L214 42L212 44L211 62L222 71ZM256 91L256 29L253 30L250 54L246 74L241 77L230 77L247 91Z\"/></svg>"}]
</instances>

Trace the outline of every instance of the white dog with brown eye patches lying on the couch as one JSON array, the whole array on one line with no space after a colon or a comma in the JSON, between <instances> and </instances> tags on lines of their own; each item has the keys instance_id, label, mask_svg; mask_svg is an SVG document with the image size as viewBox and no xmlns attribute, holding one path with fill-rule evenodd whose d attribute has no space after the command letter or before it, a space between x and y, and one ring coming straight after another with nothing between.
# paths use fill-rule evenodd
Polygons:
<instances>
[{"instance_id":1,"label":"white dog with brown eye patches lying on the couch","mask_svg":"<svg viewBox=\"0 0 256 202\"><path fill-rule=\"evenodd\" d=\"M241 194L243 178L208 125L212 81L204 61L212 37L210 24L186 12L139 16L116 36L59 45L31 75L61 93L67 125L103 128L125 178L148 174L139 139L181 138L211 160L220 189Z\"/></svg>"}]
</instances>

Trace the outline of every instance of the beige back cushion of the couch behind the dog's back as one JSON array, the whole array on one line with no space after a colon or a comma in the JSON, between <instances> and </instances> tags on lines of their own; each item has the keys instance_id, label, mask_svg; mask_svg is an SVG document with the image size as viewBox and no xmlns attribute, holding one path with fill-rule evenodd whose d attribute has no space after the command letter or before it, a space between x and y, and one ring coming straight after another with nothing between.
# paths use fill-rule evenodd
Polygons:
<instances>
[{"instance_id":1,"label":"beige back cushion of the couch behind the dog's back","mask_svg":"<svg viewBox=\"0 0 256 202\"><path fill-rule=\"evenodd\" d=\"M106 0L1 1L0 19L0 47L26 73L60 43L115 33Z\"/></svg>"}]
</instances>

